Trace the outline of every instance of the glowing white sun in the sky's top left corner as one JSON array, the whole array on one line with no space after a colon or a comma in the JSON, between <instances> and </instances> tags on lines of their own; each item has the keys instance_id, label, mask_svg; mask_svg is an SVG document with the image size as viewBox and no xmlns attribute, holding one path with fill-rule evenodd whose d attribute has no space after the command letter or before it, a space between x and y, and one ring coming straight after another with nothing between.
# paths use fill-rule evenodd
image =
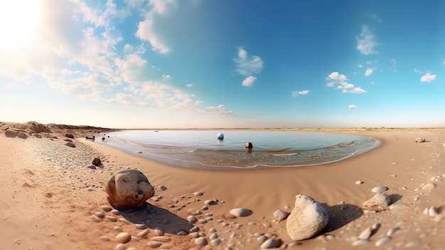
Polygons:
<instances>
[{"instance_id":1,"label":"glowing white sun in the sky's top left corner","mask_svg":"<svg viewBox=\"0 0 445 250\"><path fill-rule=\"evenodd\" d=\"M41 22L41 0L0 0L0 48L14 50L28 43Z\"/></svg>"}]
</instances>

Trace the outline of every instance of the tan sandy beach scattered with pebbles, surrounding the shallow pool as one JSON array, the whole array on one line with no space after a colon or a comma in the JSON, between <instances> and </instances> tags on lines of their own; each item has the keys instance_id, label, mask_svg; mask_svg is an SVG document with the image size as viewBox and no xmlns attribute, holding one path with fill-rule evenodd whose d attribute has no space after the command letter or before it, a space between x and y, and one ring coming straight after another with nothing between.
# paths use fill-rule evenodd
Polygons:
<instances>
[{"instance_id":1,"label":"tan sandy beach scattered with pebbles, surrounding the shallow pool","mask_svg":"<svg viewBox=\"0 0 445 250\"><path fill-rule=\"evenodd\" d=\"M377 137L382 145L326 165L214 171L163 165L85 140L92 127L47 125L51 132L35 133L30 124L0 123L0 249L260 249L257 238L277 239L282 249L445 249L445 129L331 130ZM6 137L7 127L28 137ZM96 137L108 132L98 131ZM75 147L65 145L66 132L74 135ZM416 143L417 137L427 141ZM87 166L95 157L103 166L92 170ZM150 217L104 211L104 184L126 168L140 170L155 187L147 201ZM363 207L377 186L389 188L390 206ZM286 220L277 222L274 212L291 212L296 194L323 204L329 223L318 236L294 242ZM206 205L211 199L216 204ZM438 216L424 214L431 206ZM235 218L230 210L238 207L253 214ZM101 213L103 218L93 216ZM191 214L200 219L193 225L199 231L176 235ZM144 222L148 234L135 222ZM369 241L353 246L374 224L380 227ZM375 246L390 230L389 241ZM120 244L121 232L132 240ZM207 246L197 245L203 244L195 242L198 234Z\"/></svg>"}]
</instances>

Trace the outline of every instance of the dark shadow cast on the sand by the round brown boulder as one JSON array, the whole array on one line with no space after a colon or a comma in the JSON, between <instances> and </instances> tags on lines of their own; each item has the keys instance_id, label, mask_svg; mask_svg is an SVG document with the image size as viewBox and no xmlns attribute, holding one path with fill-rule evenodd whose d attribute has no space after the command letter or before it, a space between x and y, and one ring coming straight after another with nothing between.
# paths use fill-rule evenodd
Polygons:
<instances>
[{"instance_id":1,"label":"dark shadow cast on the sand by the round brown boulder","mask_svg":"<svg viewBox=\"0 0 445 250\"><path fill-rule=\"evenodd\" d=\"M145 224L147 228L161 227L167 234L188 234L193 227L186 219L178 217L167 209L145 202L138 209L120 209L122 217L134 224Z\"/></svg>"}]
</instances>

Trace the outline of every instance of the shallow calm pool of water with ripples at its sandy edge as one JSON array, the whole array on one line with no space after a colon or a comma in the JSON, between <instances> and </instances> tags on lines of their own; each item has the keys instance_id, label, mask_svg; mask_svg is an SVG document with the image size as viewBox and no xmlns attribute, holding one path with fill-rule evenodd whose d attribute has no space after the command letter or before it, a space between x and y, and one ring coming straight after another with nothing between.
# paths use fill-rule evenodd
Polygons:
<instances>
[{"instance_id":1,"label":"shallow calm pool of water with ripples at its sandy edge","mask_svg":"<svg viewBox=\"0 0 445 250\"><path fill-rule=\"evenodd\" d=\"M217 139L219 132L224 140ZM212 170L320 165L380 145L363 135L289 130L122 130L107 135L100 143L176 167ZM251 152L246 142L252 142Z\"/></svg>"}]
</instances>

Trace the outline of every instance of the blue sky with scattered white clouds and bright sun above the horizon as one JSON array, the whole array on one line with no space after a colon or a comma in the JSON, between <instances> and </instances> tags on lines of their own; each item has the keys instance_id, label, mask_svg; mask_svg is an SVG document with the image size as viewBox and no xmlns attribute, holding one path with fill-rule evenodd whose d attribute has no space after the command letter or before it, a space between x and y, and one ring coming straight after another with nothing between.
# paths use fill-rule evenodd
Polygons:
<instances>
[{"instance_id":1,"label":"blue sky with scattered white clouds and bright sun above the horizon","mask_svg":"<svg viewBox=\"0 0 445 250\"><path fill-rule=\"evenodd\" d=\"M445 127L442 0L0 0L0 121Z\"/></svg>"}]
</instances>

